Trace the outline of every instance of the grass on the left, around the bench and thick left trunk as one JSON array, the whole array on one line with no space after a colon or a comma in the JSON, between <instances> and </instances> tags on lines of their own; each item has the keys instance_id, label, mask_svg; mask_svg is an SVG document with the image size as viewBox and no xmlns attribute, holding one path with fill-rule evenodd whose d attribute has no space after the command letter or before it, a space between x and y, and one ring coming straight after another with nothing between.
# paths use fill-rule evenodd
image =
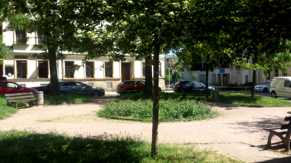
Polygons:
<instances>
[{"instance_id":1,"label":"grass on the left, around the bench and thick left trunk","mask_svg":"<svg viewBox=\"0 0 291 163\"><path fill-rule=\"evenodd\" d=\"M56 104L68 104L68 103L83 103L91 102L92 98L83 95L77 94L68 94L65 96L52 96L44 95L44 105L56 105ZM17 99L21 100L21 99ZM26 102L17 102L17 106L28 105L29 101ZM7 100L5 96L0 95L0 119L10 117L10 114L17 112L14 105L12 107L7 106Z\"/></svg>"}]
</instances>

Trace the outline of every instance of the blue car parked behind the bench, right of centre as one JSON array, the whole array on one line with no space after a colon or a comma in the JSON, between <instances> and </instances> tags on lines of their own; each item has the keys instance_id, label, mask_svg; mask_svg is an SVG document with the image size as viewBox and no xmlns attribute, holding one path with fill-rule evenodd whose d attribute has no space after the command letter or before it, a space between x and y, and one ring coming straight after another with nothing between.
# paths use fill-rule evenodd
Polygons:
<instances>
[{"instance_id":1,"label":"blue car parked behind the bench, right of centre","mask_svg":"<svg viewBox=\"0 0 291 163\"><path fill-rule=\"evenodd\" d=\"M193 91L194 89L205 90L206 85L198 81L182 80L182 81L178 81L174 86L174 92ZM208 87L208 90L215 90L215 89L213 87Z\"/></svg>"}]
</instances>

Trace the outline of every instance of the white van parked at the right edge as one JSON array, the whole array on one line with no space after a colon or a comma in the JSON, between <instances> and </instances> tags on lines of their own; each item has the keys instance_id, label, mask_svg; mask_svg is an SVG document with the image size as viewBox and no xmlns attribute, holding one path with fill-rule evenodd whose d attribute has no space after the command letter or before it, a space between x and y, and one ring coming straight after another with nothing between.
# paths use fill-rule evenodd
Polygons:
<instances>
[{"instance_id":1,"label":"white van parked at the right edge","mask_svg":"<svg viewBox=\"0 0 291 163\"><path fill-rule=\"evenodd\" d=\"M272 97L291 98L291 77L275 77L270 86Z\"/></svg>"}]
</instances>

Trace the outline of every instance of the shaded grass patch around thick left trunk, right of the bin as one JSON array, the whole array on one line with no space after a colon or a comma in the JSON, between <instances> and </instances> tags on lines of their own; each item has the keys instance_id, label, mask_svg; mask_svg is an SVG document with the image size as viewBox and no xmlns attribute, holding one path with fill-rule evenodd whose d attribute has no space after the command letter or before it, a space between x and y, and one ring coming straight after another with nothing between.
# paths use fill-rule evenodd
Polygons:
<instances>
[{"instance_id":1,"label":"shaded grass patch around thick left trunk, right of the bin","mask_svg":"<svg viewBox=\"0 0 291 163\"><path fill-rule=\"evenodd\" d=\"M78 94L68 94L68 95L59 95L52 96L48 94L43 95L44 105L56 105L56 104L69 104L69 103L84 103L92 102L92 98L84 95Z\"/></svg>"}]
</instances>

